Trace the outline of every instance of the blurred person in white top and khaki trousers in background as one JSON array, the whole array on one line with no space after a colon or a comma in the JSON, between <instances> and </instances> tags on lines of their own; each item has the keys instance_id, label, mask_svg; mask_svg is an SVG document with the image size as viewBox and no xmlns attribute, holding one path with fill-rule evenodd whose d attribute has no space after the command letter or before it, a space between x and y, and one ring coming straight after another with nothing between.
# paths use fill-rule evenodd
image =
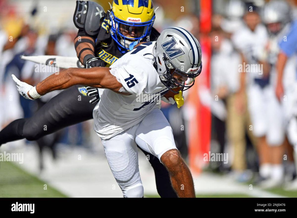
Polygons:
<instances>
[{"instance_id":1,"label":"blurred person in white top and khaki trousers in background","mask_svg":"<svg viewBox=\"0 0 297 218\"><path fill-rule=\"evenodd\" d=\"M221 138L219 140L221 147L219 153L225 152L226 142L223 140L225 137L223 129L226 125L228 141L230 141L234 152L232 170L236 174L236 179L242 181L244 179L242 173L247 168L245 130L248 125L247 111L241 113L235 104L236 94L239 90L240 73L238 72L238 64L241 63L241 56L234 50L233 44L226 35L221 28L214 28L210 36L213 52L211 58L211 88L213 99L215 99L214 102L217 104L215 108L212 107L212 112L217 114L216 117L219 119L216 123L223 122L217 126L216 131L218 137ZM223 107L225 112L222 109L220 110L220 107Z\"/></svg>"}]
</instances>

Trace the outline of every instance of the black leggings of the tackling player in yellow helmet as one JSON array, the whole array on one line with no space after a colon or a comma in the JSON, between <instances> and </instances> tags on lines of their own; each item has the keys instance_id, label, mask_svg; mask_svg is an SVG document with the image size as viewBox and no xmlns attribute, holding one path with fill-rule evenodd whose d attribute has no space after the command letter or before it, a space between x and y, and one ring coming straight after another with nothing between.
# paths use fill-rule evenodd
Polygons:
<instances>
[{"instance_id":1,"label":"black leggings of the tackling player in yellow helmet","mask_svg":"<svg viewBox=\"0 0 297 218\"><path fill-rule=\"evenodd\" d=\"M89 103L93 97L84 96L79 92L79 87L81 86L76 85L62 91L32 117L12 121L0 132L0 145L24 138L29 141L38 140L67 126L93 119L93 109L96 104ZM145 155L150 155L142 151ZM149 162L155 171L159 195L162 198L176 198L165 166L155 156L150 158Z\"/></svg>"}]
</instances>

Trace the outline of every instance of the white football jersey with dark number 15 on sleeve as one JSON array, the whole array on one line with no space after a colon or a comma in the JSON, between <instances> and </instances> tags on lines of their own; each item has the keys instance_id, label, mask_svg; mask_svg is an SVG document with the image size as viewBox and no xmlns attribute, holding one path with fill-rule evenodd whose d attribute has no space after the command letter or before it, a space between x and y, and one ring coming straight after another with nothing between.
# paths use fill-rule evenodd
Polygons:
<instances>
[{"instance_id":1,"label":"white football jersey with dark number 15 on sleeve","mask_svg":"<svg viewBox=\"0 0 297 218\"><path fill-rule=\"evenodd\" d=\"M131 95L109 89L101 92L93 111L94 129L101 139L110 139L138 124L149 112L159 108L159 97L168 92L153 66L154 44L141 44L110 66L110 73L123 85L120 91Z\"/></svg>"}]
</instances>

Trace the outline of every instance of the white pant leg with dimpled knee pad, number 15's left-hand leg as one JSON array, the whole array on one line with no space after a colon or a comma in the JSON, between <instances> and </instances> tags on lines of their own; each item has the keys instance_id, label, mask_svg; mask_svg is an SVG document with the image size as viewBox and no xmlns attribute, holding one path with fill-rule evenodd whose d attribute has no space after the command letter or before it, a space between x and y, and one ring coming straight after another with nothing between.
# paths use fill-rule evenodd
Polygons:
<instances>
[{"instance_id":1,"label":"white pant leg with dimpled knee pad, number 15's left-hand leg","mask_svg":"<svg viewBox=\"0 0 297 218\"><path fill-rule=\"evenodd\" d=\"M143 197L137 145L134 138L137 127L138 125L135 125L111 139L102 140L111 172L125 198Z\"/></svg>"}]
</instances>

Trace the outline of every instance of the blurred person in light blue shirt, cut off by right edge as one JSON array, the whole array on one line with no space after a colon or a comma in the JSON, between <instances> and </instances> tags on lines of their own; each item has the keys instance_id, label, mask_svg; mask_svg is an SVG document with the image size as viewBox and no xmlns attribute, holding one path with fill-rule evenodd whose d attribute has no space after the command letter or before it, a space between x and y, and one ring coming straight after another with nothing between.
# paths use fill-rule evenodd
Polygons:
<instances>
[{"instance_id":1,"label":"blurred person in light blue shirt, cut off by right edge","mask_svg":"<svg viewBox=\"0 0 297 218\"><path fill-rule=\"evenodd\" d=\"M279 9L277 9L279 10ZM297 20L289 25L279 38L279 55L277 57L277 82L275 93L284 106L285 127L290 144L294 148L295 163L297 150ZM297 189L297 180L288 185L288 189Z\"/></svg>"}]
</instances>

